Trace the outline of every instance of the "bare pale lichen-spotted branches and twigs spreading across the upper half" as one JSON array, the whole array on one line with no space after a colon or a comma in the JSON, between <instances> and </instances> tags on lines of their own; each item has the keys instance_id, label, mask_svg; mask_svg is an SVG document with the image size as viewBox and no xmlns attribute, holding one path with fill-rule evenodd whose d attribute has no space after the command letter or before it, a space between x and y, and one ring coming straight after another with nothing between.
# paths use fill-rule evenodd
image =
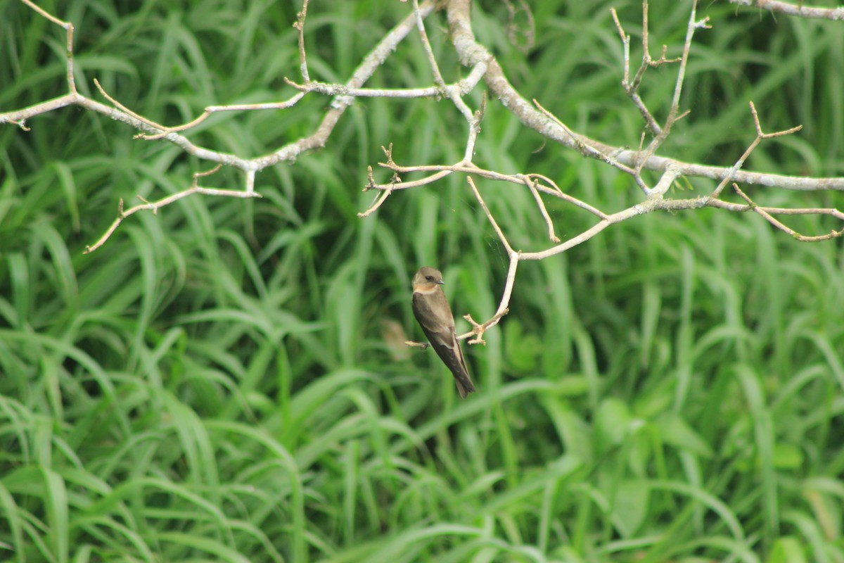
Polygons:
<instances>
[{"instance_id":1,"label":"bare pale lichen-spotted branches and twigs spreading across the upper half","mask_svg":"<svg viewBox=\"0 0 844 563\"><path fill-rule=\"evenodd\" d=\"M692 40L695 32L700 29L707 28L708 19L697 19L697 3L696 0L692 3L690 15L686 24L686 33L682 46L682 54L680 57L668 58L668 46L662 46L661 53L658 58L653 58L650 53L649 41L650 31L648 24L648 3L644 0L642 3L642 57L636 72L631 76L630 71L630 35L625 32L621 20L614 9L611 9L611 14L614 20L614 25L619 33L619 37L623 46L623 60L622 60L622 88L625 94L633 102L636 110L642 116L645 127L641 132L638 149L630 150L626 148L613 147L609 144L602 143L596 139L588 138L586 135L574 132L570 127L565 125L563 119L556 116L552 111L546 110L537 100L533 100L531 104L526 97L515 89L506 77L500 64L496 58L490 54L484 46L480 45L475 40L473 30L471 27L471 19L469 17L470 0L448 0L447 19L450 31L450 40L457 52L460 62L471 70L466 78L457 81L454 84L446 84L439 62L435 57L434 48L430 44L430 38L425 27L425 18L431 14L435 9L435 4L432 0L419 3L419 0L413 0L410 14L403 19L395 28L387 33L381 41L371 50L371 52L360 62L360 65L354 70L349 79L344 84L327 84L317 80L311 79L305 41L305 24L308 9L308 0L303 0L302 9L297 14L296 22L294 24L297 32L298 50L299 50L299 66L301 74L301 84L296 84L294 81L284 78L285 82L293 89L295 94L288 100L258 104L237 104L230 106L208 106L203 113L193 119L191 122L178 125L176 127L168 127L163 124L154 122L149 118L142 116L135 111L130 110L127 106L122 105L117 100L117 95L109 94L102 88L99 81L95 80L95 86L99 89L100 94L108 100L112 106L106 106L91 100L84 95L78 94L75 83L73 82L73 25L57 19L55 16L46 13L42 8L35 6L32 0L21 0L27 6L35 10L37 14L51 21L54 24L60 25L67 32L67 81L68 93L62 95L54 100L48 100L34 106L20 109L18 111L9 111L0 114L0 123L14 123L21 128L26 129L25 122L32 116L40 115L48 111L54 111L64 106L80 106L89 111L96 111L105 116L109 116L119 122L126 123L130 127L138 129L141 133L139 138L146 140L164 139L167 142L176 144L186 154L190 154L199 160L208 160L215 163L216 166L210 171L197 172L193 175L191 187L184 191L171 194L165 198L156 201L148 202L141 199L141 204L132 208L124 210L123 202L120 201L118 205L117 217L112 222L106 233L100 237L100 240L95 244L88 246L85 252L92 252L96 248L102 246L105 241L115 232L116 228L122 223L124 219L142 210L149 210L156 214L159 208L163 208L170 203L174 203L179 199L186 198L194 193L201 193L212 196L225 196L235 198L256 198L260 197L255 192L255 175L257 171L262 171L264 168L278 164L283 161L292 161L295 158L305 153L306 151L319 149L327 143L327 139L331 136L333 128L338 123L338 120L343 116L344 111L349 107L354 100L358 98L394 98L397 100L406 100L410 98L425 98L436 97L450 100L457 111L463 116L466 122L467 134L465 141L465 148L463 150L463 159L457 163L448 164L420 164L420 165L398 165L393 160L392 144L384 150L387 161L378 163L381 168L392 172L392 176L387 183L377 184L373 176L372 166L367 168L367 181L364 191L376 190L376 197L371 203L370 207L358 214L359 217L368 217L374 214L377 209L381 208L387 198L396 194L401 190L414 189L417 187L427 186L433 182L439 181L446 176L452 174L463 174L467 176L467 182L472 190L475 198L479 202L481 208L484 210L486 218L490 222L492 230L505 247L510 263L507 270L506 284L501 295L500 303L495 313L485 322L476 322L471 315L465 315L464 318L472 325L472 330L459 338L469 338L469 344L484 344L484 333L490 328L494 327L500 319L504 317L509 311L512 290L515 284L518 264L522 260L542 260L547 257L552 257L561 252L566 252L573 246L579 245L582 242L589 241L592 237L603 232L610 225L616 225L628 219L633 219L643 214L649 214L655 211L680 211L689 209L698 209L705 207L720 208L726 211L743 213L752 211L755 214L760 214L776 229L783 230L788 235L792 235L798 241L826 241L837 236L841 236L844 229L831 230L825 235L808 236L799 234L797 231L784 225L782 221L775 218L775 215L793 215L793 214L825 214L837 220L844 221L844 214L836 208L767 208L757 205L749 196L743 192L737 182L749 185L757 185L764 187L777 187L786 190L844 190L844 178L807 178L807 177L793 177L773 175L762 172L744 171L743 167L749 155L763 140L780 137L782 135L796 133L800 127L792 127L784 131L776 133L765 133L760 123L760 117L757 114L756 108L752 102L749 104L750 113L753 118L755 127L755 138L749 143L747 149L744 150L738 160L731 166L709 166L698 165L694 163L683 162L672 158L667 158L657 154L658 150L663 147L663 143L670 135L674 124L684 116L689 115L689 111L680 111L680 101L684 89L685 72L689 64L690 51ZM824 16L818 11L821 8L805 8L802 3L799 7L792 6L782 2L772 2L771 0L732 0L734 3L743 5L755 5L760 8L770 9L771 11L787 12L787 9L793 9L795 15L803 17L826 17L829 19L844 19L837 17L838 10L826 10ZM509 1L506 3L507 8L511 11L511 15L515 15L517 8L515 8ZM789 8L790 6L790 8ZM527 6L522 3L522 8L527 9ZM844 9L844 8L839 8ZM814 14L814 15L810 15ZM830 15L831 14L831 15ZM533 22L533 15L527 14L529 23ZM430 68L433 84L415 85L411 84L408 87L391 88L391 89L377 89L365 88L365 83L376 72L378 68L384 65L392 52L395 51L398 44L403 41L405 37L413 31L419 34L419 39L425 54L425 59ZM640 87L647 74L648 69L660 67L669 63L678 63L677 76L674 80L674 87L671 96L671 103L668 108L668 114L664 117L662 123L657 122L652 112L647 108L647 104L641 98ZM530 127L537 131L544 138L560 143L566 148L574 149L580 154L588 158L599 160L606 165L613 166L615 169L624 172L625 175L632 178L632 183L638 187L638 196L636 203L629 205L629 207L616 210L614 212L604 212L602 209L590 203L586 203L578 198L571 196L564 192L555 183L555 181L548 176L544 176L537 172L527 173L505 173L502 171L488 170L475 164L474 151L481 133L481 123L484 118L486 104L488 103L488 96L486 90L483 90L481 95L480 107L473 110L465 96L475 91L481 80L484 81L486 87L490 90L492 97L490 100L500 101L502 106L505 106L508 111L511 111L514 116L522 122L526 127ZM197 146L192 143L187 137L182 135L192 127L203 122L216 112L222 111L263 111L263 110L283 110L295 106L306 95L330 95L333 96L329 109L325 111L322 116L322 122L310 135L295 139L294 141L285 144L277 149L274 149L268 154L258 156L255 158L247 158L236 154L226 154L214 149L207 149ZM647 136L650 134L651 138L648 141ZM241 190L233 189L219 189L211 187L200 187L199 179L214 172L219 171L222 165L235 167L244 171L244 187ZM642 177L642 171L650 170L656 171L660 174L656 185L651 187L647 181ZM408 173L423 173L424 177L415 179L413 181L403 181L403 175ZM706 177L716 180L717 187L707 196L698 198L667 198L667 194L671 191L671 187L676 184L680 176L696 176ZM650 176L648 176L650 178ZM529 252L521 250L514 250L511 246L507 235L506 225L502 225L495 219L495 214L490 211L484 198L481 195L479 187L476 185L477 178L484 178L488 181L504 182L504 185L511 187L511 189L523 190L527 189L530 192L533 202L537 206L538 216L541 216L544 222L544 227L547 230L547 236L551 241L551 246L546 246L548 243L541 243L538 248ZM631 183L631 187L632 187ZM727 185L732 183L733 190L738 194L738 197L744 200L744 203L725 202L720 199L722 192ZM565 240L561 240L556 234L555 221L549 214L546 208L546 198L555 198L562 202L571 204L576 209L590 214L594 219L592 226L580 233L569 236ZM553 200L552 200L553 201ZM537 220L537 224L539 221ZM409 346L427 347L426 343L410 343Z\"/></svg>"}]
</instances>

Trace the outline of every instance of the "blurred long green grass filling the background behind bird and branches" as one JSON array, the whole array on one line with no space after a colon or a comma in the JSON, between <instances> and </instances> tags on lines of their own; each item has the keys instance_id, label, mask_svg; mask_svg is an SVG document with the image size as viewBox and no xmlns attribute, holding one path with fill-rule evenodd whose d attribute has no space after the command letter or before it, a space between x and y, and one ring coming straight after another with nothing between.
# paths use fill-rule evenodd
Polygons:
<instances>
[{"instance_id":1,"label":"blurred long green grass filling the background behind bird and branches","mask_svg":"<svg viewBox=\"0 0 844 563\"><path fill-rule=\"evenodd\" d=\"M652 51L682 45L690 3L653 0ZM828 3L835 5L835 3ZM144 116L283 100L299 3L46 0L93 78ZM641 57L641 3L532 2L536 42L504 3L473 24L518 89L576 131L636 146L614 6ZM407 3L311 3L311 76L344 82ZM66 91L63 34L0 7L0 111ZM661 154L748 170L844 174L844 28L705 2ZM523 17L523 14L520 16ZM524 24L525 20L517 20ZM446 79L467 73L443 14L426 22ZM664 116L676 69L647 73ZM411 35L369 85L430 84ZM470 96L476 106L481 88ZM251 156L310 133L329 100L217 115L188 133ZM451 163L446 101L358 100L325 149L257 177L260 200L192 197L134 215L84 255L117 202L177 192L208 163L67 108L0 127L0 560L844 561L844 253L756 215L650 214L522 263L511 313L466 347L457 398L420 338L409 279L439 266L459 318L495 311L506 255L463 177L394 195L368 219L367 165ZM542 172L606 211L629 178L544 143L490 100L477 162ZM380 180L387 175L376 171ZM207 184L237 187L224 169ZM676 197L706 193L691 178ZM524 250L544 247L526 192L480 183ZM840 192L749 187L784 207ZM587 216L550 203L560 235ZM828 219L828 218L826 218ZM798 218L804 234L839 229ZM466 329L468 325L459 320Z\"/></svg>"}]
</instances>

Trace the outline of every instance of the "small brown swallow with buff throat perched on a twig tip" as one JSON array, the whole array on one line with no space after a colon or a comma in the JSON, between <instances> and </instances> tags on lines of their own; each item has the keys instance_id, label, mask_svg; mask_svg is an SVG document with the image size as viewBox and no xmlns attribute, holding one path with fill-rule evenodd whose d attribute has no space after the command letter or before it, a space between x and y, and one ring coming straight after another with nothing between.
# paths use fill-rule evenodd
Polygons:
<instances>
[{"instance_id":1,"label":"small brown swallow with buff throat perched on a twig tip","mask_svg":"<svg viewBox=\"0 0 844 563\"><path fill-rule=\"evenodd\" d=\"M427 266L419 268L414 275L414 317L436 350L436 355L454 374L460 397L466 398L468 393L474 392L474 385L466 369L466 360L463 360L463 350L457 343L452 308L448 306L446 294L440 287L445 283L439 270Z\"/></svg>"}]
</instances>

